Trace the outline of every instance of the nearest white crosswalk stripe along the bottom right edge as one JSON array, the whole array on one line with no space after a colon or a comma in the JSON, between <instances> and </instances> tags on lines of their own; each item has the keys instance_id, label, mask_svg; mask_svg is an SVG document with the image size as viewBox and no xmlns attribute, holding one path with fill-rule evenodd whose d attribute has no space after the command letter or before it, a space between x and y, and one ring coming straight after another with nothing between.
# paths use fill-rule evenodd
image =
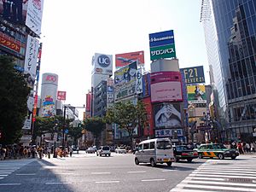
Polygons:
<instances>
[{"instance_id":1,"label":"nearest white crosswalk stripe along the bottom right edge","mask_svg":"<svg viewBox=\"0 0 256 192\"><path fill-rule=\"evenodd\" d=\"M246 191L246 192L255 192L255 189L245 189L245 188L232 188L232 187L224 187L224 186L209 186L209 185L199 185L199 184L177 184L178 188L198 188L198 189L222 189L222 190L237 190L237 191ZM180 189L180 191L182 192L182 189ZM208 192L208 190L207 190Z\"/></svg>"}]
</instances>

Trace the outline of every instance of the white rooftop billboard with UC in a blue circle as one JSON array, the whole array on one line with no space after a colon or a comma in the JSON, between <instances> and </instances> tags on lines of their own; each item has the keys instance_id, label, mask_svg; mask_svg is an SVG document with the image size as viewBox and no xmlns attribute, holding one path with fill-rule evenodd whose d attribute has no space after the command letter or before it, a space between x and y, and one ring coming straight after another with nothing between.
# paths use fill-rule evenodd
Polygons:
<instances>
[{"instance_id":1,"label":"white rooftop billboard with UC in a blue circle","mask_svg":"<svg viewBox=\"0 0 256 192\"><path fill-rule=\"evenodd\" d=\"M92 73L113 75L113 56L96 53L92 57Z\"/></svg>"}]
</instances>

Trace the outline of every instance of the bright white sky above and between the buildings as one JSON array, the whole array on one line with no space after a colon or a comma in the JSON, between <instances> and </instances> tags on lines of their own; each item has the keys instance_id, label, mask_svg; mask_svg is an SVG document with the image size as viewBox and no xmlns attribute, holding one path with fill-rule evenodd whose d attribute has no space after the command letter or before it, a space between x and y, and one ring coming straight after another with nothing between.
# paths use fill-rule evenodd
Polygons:
<instances>
[{"instance_id":1,"label":"bright white sky above and between the buildings","mask_svg":"<svg viewBox=\"0 0 256 192\"><path fill-rule=\"evenodd\" d=\"M179 67L204 66L209 84L200 13L201 0L44 0L40 79L56 73L58 90L67 91L65 104L81 107L95 53L113 55L114 66L114 55L144 50L149 70L148 34L173 30Z\"/></svg>"}]
</instances>

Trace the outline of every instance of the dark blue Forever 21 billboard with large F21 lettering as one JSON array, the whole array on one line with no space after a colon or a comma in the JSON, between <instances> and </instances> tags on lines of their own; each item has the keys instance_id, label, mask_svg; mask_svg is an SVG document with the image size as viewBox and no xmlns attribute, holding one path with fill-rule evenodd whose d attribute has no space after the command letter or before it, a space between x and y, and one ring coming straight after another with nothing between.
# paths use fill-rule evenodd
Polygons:
<instances>
[{"instance_id":1,"label":"dark blue Forever 21 billboard with large F21 lettering","mask_svg":"<svg viewBox=\"0 0 256 192\"><path fill-rule=\"evenodd\" d=\"M186 84L205 83L205 74L203 66L181 68L180 72L184 73Z\"/></svg>"}]
</instances>

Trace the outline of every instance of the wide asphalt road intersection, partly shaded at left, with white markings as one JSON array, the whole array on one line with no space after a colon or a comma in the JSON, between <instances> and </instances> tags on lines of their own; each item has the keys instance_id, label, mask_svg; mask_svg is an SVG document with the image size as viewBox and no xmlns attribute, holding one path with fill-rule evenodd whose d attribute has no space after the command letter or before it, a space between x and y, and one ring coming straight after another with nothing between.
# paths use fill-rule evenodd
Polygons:
<instances>
[{"instance_id":1,"label":"wide asphalt road intersection, partly shaded at left, with white markings","mask_svg":"<svg viewBox=\"0 0 256 192\"><path fill-rule=\"evenodd\" d=\"M0 191L256 191L256 183L253 183L254 179L256 182L256 154L254 156L239 156L237 160L183 161L173 163L172 167L164 164L157 167L145 164L136 166L133 154L97 157L96 154L82 151L71 158L4 160L0 161ZM229 167L237 169L230 171ZM239 167L243 172L238 170ZM219 177L230 180L220 180L218 184L216 178L219 180ZM239 177L246 180L241 181ZM234 188L236 184L232 183L243 184L243 189Z\"/></svg>"}]
</instances>

